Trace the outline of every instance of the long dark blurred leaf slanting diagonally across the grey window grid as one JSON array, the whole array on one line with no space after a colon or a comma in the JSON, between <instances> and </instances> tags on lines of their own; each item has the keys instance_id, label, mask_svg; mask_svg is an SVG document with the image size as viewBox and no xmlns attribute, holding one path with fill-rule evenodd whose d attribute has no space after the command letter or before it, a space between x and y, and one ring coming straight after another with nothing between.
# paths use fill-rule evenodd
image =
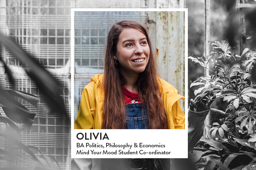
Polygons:
<instances>
[{"instance_id":1,"label":"long dark blurred leaf slanting diagonally across the grey window grid","mask_svg":"<svg viewBox=\"0 0 256 170\"><path fill-rule=\"evenodd\" d=\"M47 70L45 70L44 67L35 60L35 58L1 33L0 43L3 43L21 63L26 63L26 67L24 67L24 69L29 77L35 81L37 87L39 88L40 92L43 93L46 102L51 107L52 111L69 117L65 110L64 101L60 96L61 93L58 90L61 87L59 81L55 79ZM69 120L66 120L66 123L69 123Z\"/></svg>"}]
</instances>

